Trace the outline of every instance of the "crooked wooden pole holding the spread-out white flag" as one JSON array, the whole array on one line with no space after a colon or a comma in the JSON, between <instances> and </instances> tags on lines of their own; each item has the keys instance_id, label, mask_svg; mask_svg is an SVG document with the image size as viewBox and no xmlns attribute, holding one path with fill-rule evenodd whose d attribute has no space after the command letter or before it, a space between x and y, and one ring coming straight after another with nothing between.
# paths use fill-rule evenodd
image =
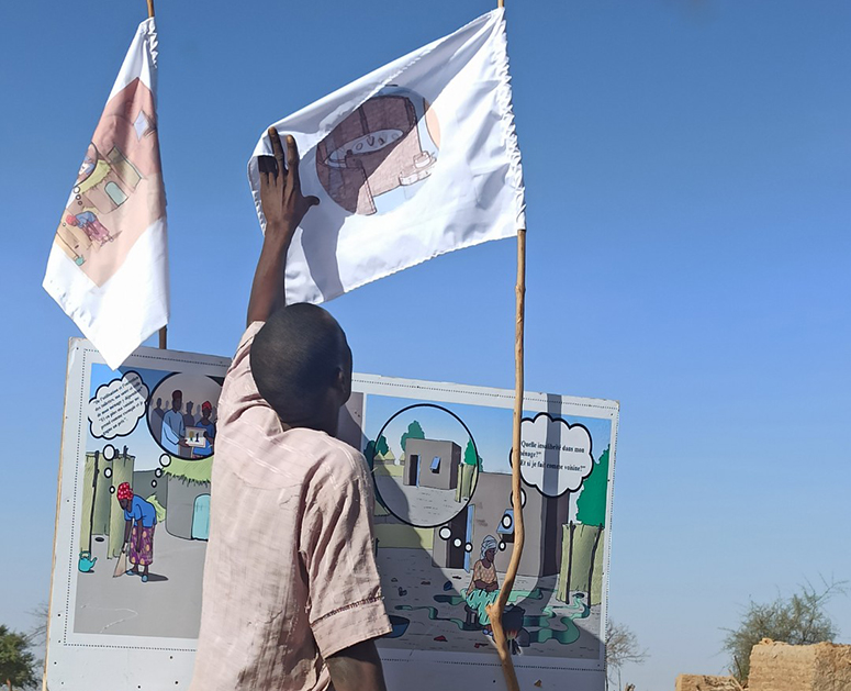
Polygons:
<instances>
[{"instance_id":1,"label":"crooked wooden pole holding the spread-out white flag","mask_svg":"<svg viewBox=\"0 0 851 691\"><path fill-rule=\"evenodd\" d=\"M499 7L504 7L504 0L497 0ZM505 629L502 625L502 615L505 611L505 604L508 602L514 588L514 579L517 576L517 569L520 566L520 556L523 555L523 542L525 532L523 527L523 501L520 493L520 422L523 420L523 338L526 314L526 229L517 230L517 285L515 287L516 313L514 332L514 421L512 428L512 509L514 510L514 545L512 547L512 557L508 562L508 570L505 572L500 589L500 597L496 602L485 608L488 617L491 620L491 629L493 631L493 640L496 644L496 650L500 654L502 671L505 676L505 686L508 691L519 691L517 675L514 671L512 654L508 649L508 639L505 636Z\"/></svg>"}]
</instances>

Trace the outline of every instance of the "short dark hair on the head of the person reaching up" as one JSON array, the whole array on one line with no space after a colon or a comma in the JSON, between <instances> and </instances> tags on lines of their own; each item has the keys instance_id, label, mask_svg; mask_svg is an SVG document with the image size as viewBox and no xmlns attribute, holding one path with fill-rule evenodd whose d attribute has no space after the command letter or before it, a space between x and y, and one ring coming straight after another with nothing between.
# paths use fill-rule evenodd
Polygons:
<instances>
[{"instance_id":1,"label":"short dark hair on the head of the person reaching up","mask_svg":"<svg viewBox=\"0 0 851 691\"><path fill-rule=\"evenodd\" d=\"M288 304L257 332L251 374L282 420L306 420L317 412L348 354L346 334L328 312L306 302Z\"/></svg>"}]
</instances>

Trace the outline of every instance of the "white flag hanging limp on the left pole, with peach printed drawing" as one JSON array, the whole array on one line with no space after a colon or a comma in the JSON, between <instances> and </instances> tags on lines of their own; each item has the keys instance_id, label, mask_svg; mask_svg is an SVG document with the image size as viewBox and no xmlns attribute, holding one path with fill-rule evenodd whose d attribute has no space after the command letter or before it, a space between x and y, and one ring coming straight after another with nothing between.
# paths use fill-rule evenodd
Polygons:
<instances>
[{"instance_id":1,"label":"white flag hanging limp on the left pole, with peach printed drawing","mask_svg":"<svg viewBox=\"0 0 851 691\"><path fill-rule=\"evenodd\" d=\"M168 323L157 33L142 22L80 165L44 288L110 367Z\"/></svg>"}]
</instances>

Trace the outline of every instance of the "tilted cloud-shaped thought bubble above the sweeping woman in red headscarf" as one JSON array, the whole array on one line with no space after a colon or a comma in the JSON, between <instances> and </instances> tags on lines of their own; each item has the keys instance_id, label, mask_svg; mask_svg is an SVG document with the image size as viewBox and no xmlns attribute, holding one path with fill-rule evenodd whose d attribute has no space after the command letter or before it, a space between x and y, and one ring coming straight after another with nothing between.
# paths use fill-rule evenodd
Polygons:
<instances>
[{"instance_id":1,"label":"tilted cloud-shaped thought bubble above the sweeping woman in red headscarf","mask_svg":"<svg viewBox=\"0 0 851 691\"><path fill-rule=\"evenodd\" d=\"M125 372L121 379L98 387L89 400L89 427L94 437L113 439L136 428L145 414L148 388L138 372Z\"/></svg>"}]
</instances>

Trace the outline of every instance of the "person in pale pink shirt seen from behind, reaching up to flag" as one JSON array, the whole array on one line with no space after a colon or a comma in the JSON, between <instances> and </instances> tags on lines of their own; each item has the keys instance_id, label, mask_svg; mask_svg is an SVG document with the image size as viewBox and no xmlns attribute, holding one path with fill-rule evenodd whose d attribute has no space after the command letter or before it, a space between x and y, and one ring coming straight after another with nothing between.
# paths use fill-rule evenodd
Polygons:
<instances>
[{"instance_id":1,"label":"person in pale pink shirt seen from behind, reaching up to flag","mask_svg":"<svg viewBox=\"0 0 851 691\"><path fill-rule=\"evenodd\" d=\"M284 156L269 136L266 236L219 402L190 691L385 691L372 483L363 457L335 438L351 352L328 312L283 304L287 250L318 199L301 193L292 137Z\"/></svg>"}]
</instances>

